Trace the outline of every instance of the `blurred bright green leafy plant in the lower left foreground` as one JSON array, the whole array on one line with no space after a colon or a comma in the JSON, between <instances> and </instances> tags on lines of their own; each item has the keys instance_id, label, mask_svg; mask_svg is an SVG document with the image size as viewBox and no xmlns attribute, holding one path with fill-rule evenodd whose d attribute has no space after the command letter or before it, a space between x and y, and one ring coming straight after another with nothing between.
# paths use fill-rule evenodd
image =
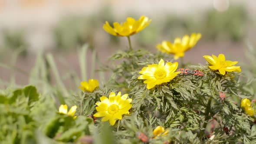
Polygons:
<instances>
[{"instance_id":1,"label":"blurred bright green leafy plant in the lower left foreground","mask_svg":"<svg viewBox=\"0 0 256 144\"><path fill-rule=\"evenodd\" d=\"M55 144L49 138L69 142L90 135L90 118L58 114L53 99L40 96L34 86L1 91L0 100L1 144Z\"/></svg>"}]
</instances>

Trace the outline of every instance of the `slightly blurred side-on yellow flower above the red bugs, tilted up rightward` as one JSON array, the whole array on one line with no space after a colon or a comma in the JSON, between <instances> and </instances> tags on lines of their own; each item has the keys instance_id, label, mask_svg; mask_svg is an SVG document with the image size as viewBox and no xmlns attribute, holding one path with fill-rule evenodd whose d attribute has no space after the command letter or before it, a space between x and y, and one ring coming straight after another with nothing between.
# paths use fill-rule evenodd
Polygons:
<instances>
[{"instance_id":1,"label":"slightly blurred side-on yellow flower above the red bugs, tilted up rightward","mask_svg":"<svg viewBox=\"0 0 256 144\"><path fill-rule=\"evenodd\" d=\"M188 35L183 36L182 39L177 37L174 43L163 41L157 45L157 49L167 54L174 54L174 59L179 59L184 56L184 52L194 47L200 38L201 33L192 33L190 37Z\"/></svg>"}]
</instances>

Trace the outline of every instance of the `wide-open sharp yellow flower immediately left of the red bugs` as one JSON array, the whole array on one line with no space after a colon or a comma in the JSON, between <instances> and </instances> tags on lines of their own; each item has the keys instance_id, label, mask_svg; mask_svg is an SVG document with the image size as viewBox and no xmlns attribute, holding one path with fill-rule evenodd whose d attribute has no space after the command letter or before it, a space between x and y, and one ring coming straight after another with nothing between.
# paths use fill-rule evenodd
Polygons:
<instances>
[{"instance_id":1,"label":"wide-open sharp yellow flower immediately left of the red bugs","mask_svg":"<svg viewBox=\"0 0 256 144\"><path fill-rule=\"evenodd\" d=\"M178 67L178 62L167 62L164 65L164 60L161 59L158 64L148 65L140 71L138 79L147 79L144 84L147 84L147 88L154 88L155 85L161 85L165 82L170 82L180 72L175 72Z\"/></svg>"}]
</instances>

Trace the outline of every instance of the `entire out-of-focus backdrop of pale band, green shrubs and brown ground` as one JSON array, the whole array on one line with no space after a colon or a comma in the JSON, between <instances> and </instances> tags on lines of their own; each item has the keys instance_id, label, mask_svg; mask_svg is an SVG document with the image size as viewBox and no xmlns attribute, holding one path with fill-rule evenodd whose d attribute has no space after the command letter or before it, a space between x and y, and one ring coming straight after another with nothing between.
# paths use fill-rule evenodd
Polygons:
<instances>
[{"instance_id":1,"label":"entire out-of-focus backdrop of pale band, green shrubs and brown ground","mask_svg":"<svg viewBox=\"0 0 256 144\"><path fill-rule=\"evenodd\" d=\"M202 33L185 62L204 64L203 55L223 53L242 65L248 61L248 43L256 46L255 13L255 0L0 0L0 83L28 84L38 55L49 52L61 78L68 71L79 73L84 44L89 45L88 69L94 51L95 65L106 63L114 52L127 49L128 41L106 33L105 21L138 20L141 15L152 22L131 36L135 49L156 52L163 40Z\"/></svg>"}]
</instances>

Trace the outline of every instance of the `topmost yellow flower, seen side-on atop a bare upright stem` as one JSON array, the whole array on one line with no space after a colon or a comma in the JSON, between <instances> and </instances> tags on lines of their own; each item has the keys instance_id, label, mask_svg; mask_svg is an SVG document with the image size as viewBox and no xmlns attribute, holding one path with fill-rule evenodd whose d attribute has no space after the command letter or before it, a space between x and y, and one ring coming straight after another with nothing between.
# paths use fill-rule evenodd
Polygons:
<instances>
[{"instance_id":1,"label":"topmost yellow flower, seen side-on atop a bare upright stem","mask_svg":"<svg viewBox=\"0 0 256 144\"><path fill-rule=\"evenodd\" d=\"M131 36L147 27L149 23L151 23L151 20L146 16L141 16L137 21L128 17L124 23L113 23L114 28L112 28L106 21L103 29L114 36Z\"/></svg>"}]
</instances>

